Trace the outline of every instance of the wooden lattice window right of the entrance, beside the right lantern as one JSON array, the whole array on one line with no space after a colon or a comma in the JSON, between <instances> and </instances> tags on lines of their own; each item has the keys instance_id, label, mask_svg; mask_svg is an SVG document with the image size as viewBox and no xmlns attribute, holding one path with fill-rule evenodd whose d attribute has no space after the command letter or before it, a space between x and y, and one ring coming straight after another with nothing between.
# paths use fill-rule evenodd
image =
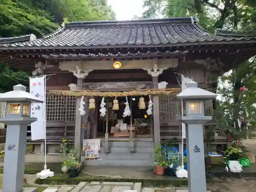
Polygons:
<instances>
[{"instance_id":1,"label":"wooden lattice window right of the entrance, beside the right lantern","mask_svg":"<svg viewBox=\"0 0 256 192\"><path fill-rule=\"evenodd\" d=\"M180 116L180 100L172 95L159 96L160 121L177 119Z\"/></svg>"}]
</instances>

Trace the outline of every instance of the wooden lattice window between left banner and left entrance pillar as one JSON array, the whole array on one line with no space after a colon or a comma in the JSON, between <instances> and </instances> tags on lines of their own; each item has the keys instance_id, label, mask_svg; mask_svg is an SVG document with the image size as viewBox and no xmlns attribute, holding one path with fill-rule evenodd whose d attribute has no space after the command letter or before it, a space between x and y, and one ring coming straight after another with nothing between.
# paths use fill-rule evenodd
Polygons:
<instances>
[{"instance_id":1,"label":"wooden lattice window between left banner and left entrance pillar","mask_svg":"<svg viewBox=\"0 0 256 192\"><path fill-rule=\"evenodd\" d=\"M76 97L47 94L46 114L47 121L75 121Z\"/></svg>"}]
</instances>

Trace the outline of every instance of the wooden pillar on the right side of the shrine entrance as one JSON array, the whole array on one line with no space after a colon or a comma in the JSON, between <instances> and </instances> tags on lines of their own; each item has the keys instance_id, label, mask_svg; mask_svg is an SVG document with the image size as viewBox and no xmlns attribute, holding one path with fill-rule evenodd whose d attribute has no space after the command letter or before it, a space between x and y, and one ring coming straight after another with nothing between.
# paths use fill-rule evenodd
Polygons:
<instances>
[{"instance_id":1,"label":"wooden pillar on the right side of the shrine entrance","mask_svg":"<svg viewBox=\"0 0 256 192\"><path fill-rule=\"evenodd\" d=\"M158 89L158 76L152 77L153 88ZM160 144L160 116L159 116L159 96L153 96L153 119L154 119L154 141L155 146Z\"/></svg>"}]
</instances>

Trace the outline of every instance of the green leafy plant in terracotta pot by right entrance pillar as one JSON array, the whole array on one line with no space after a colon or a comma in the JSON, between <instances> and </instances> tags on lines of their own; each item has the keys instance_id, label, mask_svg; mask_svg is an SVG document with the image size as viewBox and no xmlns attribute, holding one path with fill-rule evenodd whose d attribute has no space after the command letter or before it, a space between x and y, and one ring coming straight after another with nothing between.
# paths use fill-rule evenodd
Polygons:
<instances>
[{"instance_id":1,"label":"green leafy plant in terracotta pot by right entrance pillar","mask_svg":"<svg viewBox=\"0 0 256 192\"><path fill-rule=\"evenodd\" d=\"M164 169L167 166L166 162L166 154L162 150L162 145L156 146L154 150L154 164L156 168L156 174L157 175L163 175L164 174Z\"/></svg>"}]
</instances>

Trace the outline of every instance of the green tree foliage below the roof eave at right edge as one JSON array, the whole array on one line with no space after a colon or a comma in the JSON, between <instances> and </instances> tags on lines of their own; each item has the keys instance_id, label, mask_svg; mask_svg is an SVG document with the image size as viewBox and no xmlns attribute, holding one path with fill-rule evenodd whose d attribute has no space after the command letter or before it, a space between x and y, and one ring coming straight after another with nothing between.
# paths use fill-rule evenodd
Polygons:
<instances>
[{"instance_id":1,"label":"green tree foliage below the roof eave at right edge","mask_svg":"<svg viewBox=\"0 0 256 192\"><path fill-rule=\"evenodd\" d=\"M256 119L255 99L256 99L256 59L241 63L237 68L229 73L224 73L219 77L217 92L221 95L218 103L219 111L224 118L220 119L225 130L231 130L234 140L248 137L246 130L250 121ZM245 86L248 91L240 91ZM221 116L221 115L220 115ZM237 119L242 117L242 129L238 128Z\"/></svg>"}]
</instances>

